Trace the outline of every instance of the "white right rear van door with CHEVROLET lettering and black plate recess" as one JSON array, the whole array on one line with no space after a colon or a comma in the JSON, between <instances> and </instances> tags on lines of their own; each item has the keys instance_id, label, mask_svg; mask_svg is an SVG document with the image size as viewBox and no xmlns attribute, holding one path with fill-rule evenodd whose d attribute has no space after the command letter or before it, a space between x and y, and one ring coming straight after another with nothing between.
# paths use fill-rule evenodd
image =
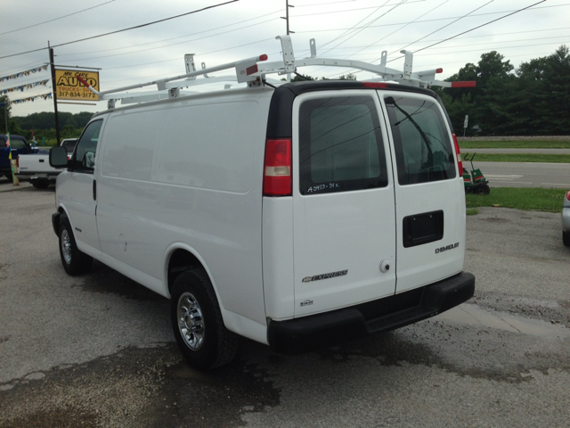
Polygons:
<instances>
[{"instance_id":1,"label":"white right rear van door with CHEVROLET lettering and black plate recess","mask_svg":"<svg viewBox=\"0 0 570 428\"><path fill-rule=\"evenodd\" d=\"M397 287L457 274L465 255L465 191L451 130L434 97L379 91L395 168Z\"/></svg>"}]
</instances>

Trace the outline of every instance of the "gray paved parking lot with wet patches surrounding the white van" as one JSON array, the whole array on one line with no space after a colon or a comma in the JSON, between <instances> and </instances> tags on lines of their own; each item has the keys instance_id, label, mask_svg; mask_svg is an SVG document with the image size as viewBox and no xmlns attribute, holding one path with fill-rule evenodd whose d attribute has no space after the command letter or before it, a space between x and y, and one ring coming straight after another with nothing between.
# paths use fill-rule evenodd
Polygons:
<instances>
[{"instance_id":1,"label":"gray paved parking lot with wet patches surrounding the white van","mask_svg":"<svg viewBox=\"0 0 570 428\"><path fill-rule=\"evenodd\" d=\"M61 268L53 187L1 192L0 428L568 426L570 248L559 215L468 217L476 297L302 356L243 341L208 374L175 348L168 301L95 264Z\"/></svg>"}]
</instances>

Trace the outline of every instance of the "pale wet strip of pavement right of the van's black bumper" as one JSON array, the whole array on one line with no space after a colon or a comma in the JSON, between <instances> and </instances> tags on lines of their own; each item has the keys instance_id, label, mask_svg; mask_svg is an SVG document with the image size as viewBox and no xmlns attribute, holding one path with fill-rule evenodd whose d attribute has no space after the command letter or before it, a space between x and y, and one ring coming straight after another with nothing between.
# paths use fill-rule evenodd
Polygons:
<instances>
[{"instance_id":1,"label":"pale wet strip of pavement right of the van's black bumper","mask_svg":"<svg viewBox=\"0 0 570 428\"><path fill-rule=\"evenodd\" d=\"M552 324L538 319L517 317L506 312L479 308L476 305L463 304L435 317L452 323L479 325L505 330L511 333L530 334L542 338L570 337L570 329L564 325Z\"/></svg>"}]
</instances>

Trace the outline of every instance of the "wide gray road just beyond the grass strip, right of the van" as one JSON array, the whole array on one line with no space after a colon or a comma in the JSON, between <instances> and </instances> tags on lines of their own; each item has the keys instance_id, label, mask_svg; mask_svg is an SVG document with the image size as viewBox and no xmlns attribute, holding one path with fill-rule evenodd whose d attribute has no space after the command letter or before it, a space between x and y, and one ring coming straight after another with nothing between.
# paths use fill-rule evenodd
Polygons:
<instances>
[{"instance_id":1,"label":"wide gray road just beyond the grass strip, right of the van","mask_svg":"<svg viewBox=\"0 0 570 428\"><path fill-rule=\"evenodd\" d=\"M570 163L473 162L491 187L543 187L570 189ZM469 162L463 162L471 169Z\"/></svg>"}]
</instances>

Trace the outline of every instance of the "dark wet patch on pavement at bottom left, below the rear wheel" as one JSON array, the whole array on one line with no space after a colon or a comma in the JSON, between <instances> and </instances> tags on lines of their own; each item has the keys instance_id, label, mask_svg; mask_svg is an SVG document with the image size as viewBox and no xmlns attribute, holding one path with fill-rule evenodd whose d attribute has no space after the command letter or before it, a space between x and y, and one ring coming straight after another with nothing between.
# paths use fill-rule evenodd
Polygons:
<instances>
[{"instance_id":1,"label":"dark wet patch on pavement at bottom left, below the rear wheel","mask_svg":"<svg viewBox=\"0 0 570 428\"><path fill-rule=\"evenodd\" d=\"M273 374L236 358L199 372L175 343L126 348L81 365L28 375L0 391L0 428L37 426L240 426L246 413L280 404Z\"/></svg>"}]
</instances>

